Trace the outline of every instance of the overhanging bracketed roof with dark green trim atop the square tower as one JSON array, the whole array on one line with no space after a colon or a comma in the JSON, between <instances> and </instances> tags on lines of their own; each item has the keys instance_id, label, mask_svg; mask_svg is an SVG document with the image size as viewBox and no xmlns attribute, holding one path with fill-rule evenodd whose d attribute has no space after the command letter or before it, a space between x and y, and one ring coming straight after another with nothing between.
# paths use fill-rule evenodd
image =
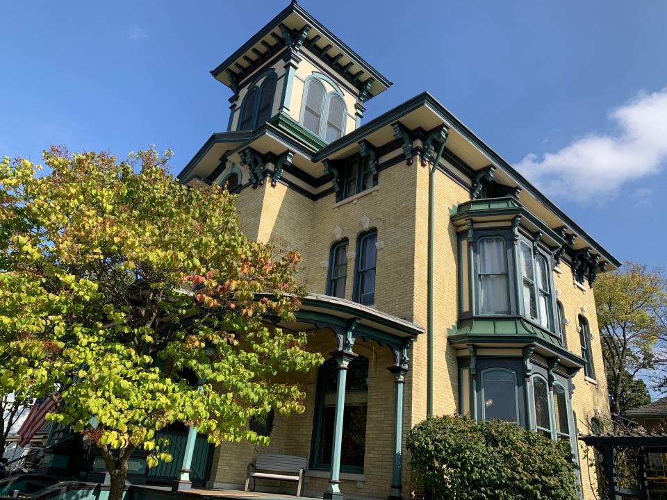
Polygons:
<instances>
[{"instance_id":1,"label":"overhanging bracketed roof with dark green trim atop the square tower","mask_svg":"<svg viewBox=\"0 0 667 500\"><path fill-rule=\"evenodd\" d=\"M300 40L299 40L300 38ZM303 43L324 63L370 99L391 85L377 69L347 47L296 1L284 8L211 74L234 92L256 69L278 56L288 43Z\"/></svg>"}]
</instances>

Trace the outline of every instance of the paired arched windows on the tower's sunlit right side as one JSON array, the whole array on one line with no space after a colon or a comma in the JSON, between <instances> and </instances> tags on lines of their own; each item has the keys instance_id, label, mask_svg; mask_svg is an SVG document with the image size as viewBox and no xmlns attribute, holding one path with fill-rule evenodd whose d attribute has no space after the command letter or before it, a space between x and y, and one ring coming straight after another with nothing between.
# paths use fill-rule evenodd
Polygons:
<instances>
[{"instance_id":1,"label":"paired arched windows on the tower's sunlit right side","mask_svg":"<svg viewBox=\"0 0 667 500\"><path fill-rule=\"evenodd\" d=\"M306 79L301 124L326 142L333 142L345 134L345 101L338 90L327 93L319 77Z\"/></svg>"}]
</instances>

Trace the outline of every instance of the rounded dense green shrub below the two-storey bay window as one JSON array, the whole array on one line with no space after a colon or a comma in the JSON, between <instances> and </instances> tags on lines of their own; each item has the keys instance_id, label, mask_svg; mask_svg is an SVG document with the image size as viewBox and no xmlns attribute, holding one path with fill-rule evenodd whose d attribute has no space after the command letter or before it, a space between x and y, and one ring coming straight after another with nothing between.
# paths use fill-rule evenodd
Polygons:
<instances>
[{"instance_id":1,"label":"rounded dense green shrub below the two-storey bay window","mask_svg":"<svg viewBox=\"0 0 667 500\"><path fill-rule=\"evenodd\" d=\"M427 419L410 431L412 467L435 499L577 500L569 442L509 422Z\"/></svg>"}]
</instances>

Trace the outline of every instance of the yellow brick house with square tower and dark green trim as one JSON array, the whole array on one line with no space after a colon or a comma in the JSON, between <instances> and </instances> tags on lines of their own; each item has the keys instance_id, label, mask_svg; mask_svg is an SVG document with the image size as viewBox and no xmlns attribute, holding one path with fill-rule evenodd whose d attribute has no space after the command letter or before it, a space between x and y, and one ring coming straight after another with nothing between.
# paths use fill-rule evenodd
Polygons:
<instances>
[{"instance_id":1,"label":"yellow brick house with square tower and dark green trim","mask_svg":"<svg viewBox=\"0 0 667 500\"><path fill-rule=\"evenodd\" d=\"M593 282L618 260L431 94L362 123L390 81L295 2L211 73L227 131L179 179L227 183L251 238L302 253L309 294L281 326L327 361L267 449L215 450L209 485L280 453L307 459L306 495L407 499L406 432L460 412L569 440L592 499L577 432L609 412Z\"/></svg>"}]
</instances>

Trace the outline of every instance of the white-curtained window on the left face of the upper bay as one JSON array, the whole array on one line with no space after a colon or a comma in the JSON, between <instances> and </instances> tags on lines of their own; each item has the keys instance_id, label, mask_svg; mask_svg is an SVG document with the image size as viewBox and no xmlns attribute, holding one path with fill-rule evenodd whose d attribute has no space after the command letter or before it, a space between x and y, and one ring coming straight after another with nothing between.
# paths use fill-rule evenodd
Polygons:
<instances>
[{"instance_id":1,"label":"white-curtained window on the left face of the upper bay","mask_svg":"<svg viewBox=\"0 0 667 500\"><path fill-rule=\"evenodd\" d=\"M481 238L477 243L479 313L509 313L507 249L504 238Z\"/></svg>"}]
</instances>

